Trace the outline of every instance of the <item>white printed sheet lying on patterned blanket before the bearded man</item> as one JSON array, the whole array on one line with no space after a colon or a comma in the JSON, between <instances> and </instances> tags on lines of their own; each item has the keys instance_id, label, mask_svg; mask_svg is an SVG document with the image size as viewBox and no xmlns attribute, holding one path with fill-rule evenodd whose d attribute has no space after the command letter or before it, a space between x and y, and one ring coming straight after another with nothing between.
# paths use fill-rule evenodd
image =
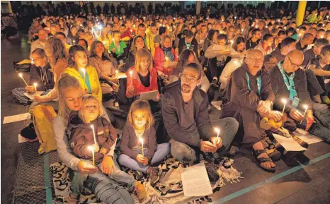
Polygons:
<instances>
[{"instance_id":1,"label":"white printed sheet lying on patterned blanket before the bearded man","mask_svg":"<svg viewBox=\"0 0 330 204\"><path fill-rule=\"evenodd\" d=\"M184 196L207 196L212 194L204 162L181 171Z\"/></svg>"}]
</instances>

